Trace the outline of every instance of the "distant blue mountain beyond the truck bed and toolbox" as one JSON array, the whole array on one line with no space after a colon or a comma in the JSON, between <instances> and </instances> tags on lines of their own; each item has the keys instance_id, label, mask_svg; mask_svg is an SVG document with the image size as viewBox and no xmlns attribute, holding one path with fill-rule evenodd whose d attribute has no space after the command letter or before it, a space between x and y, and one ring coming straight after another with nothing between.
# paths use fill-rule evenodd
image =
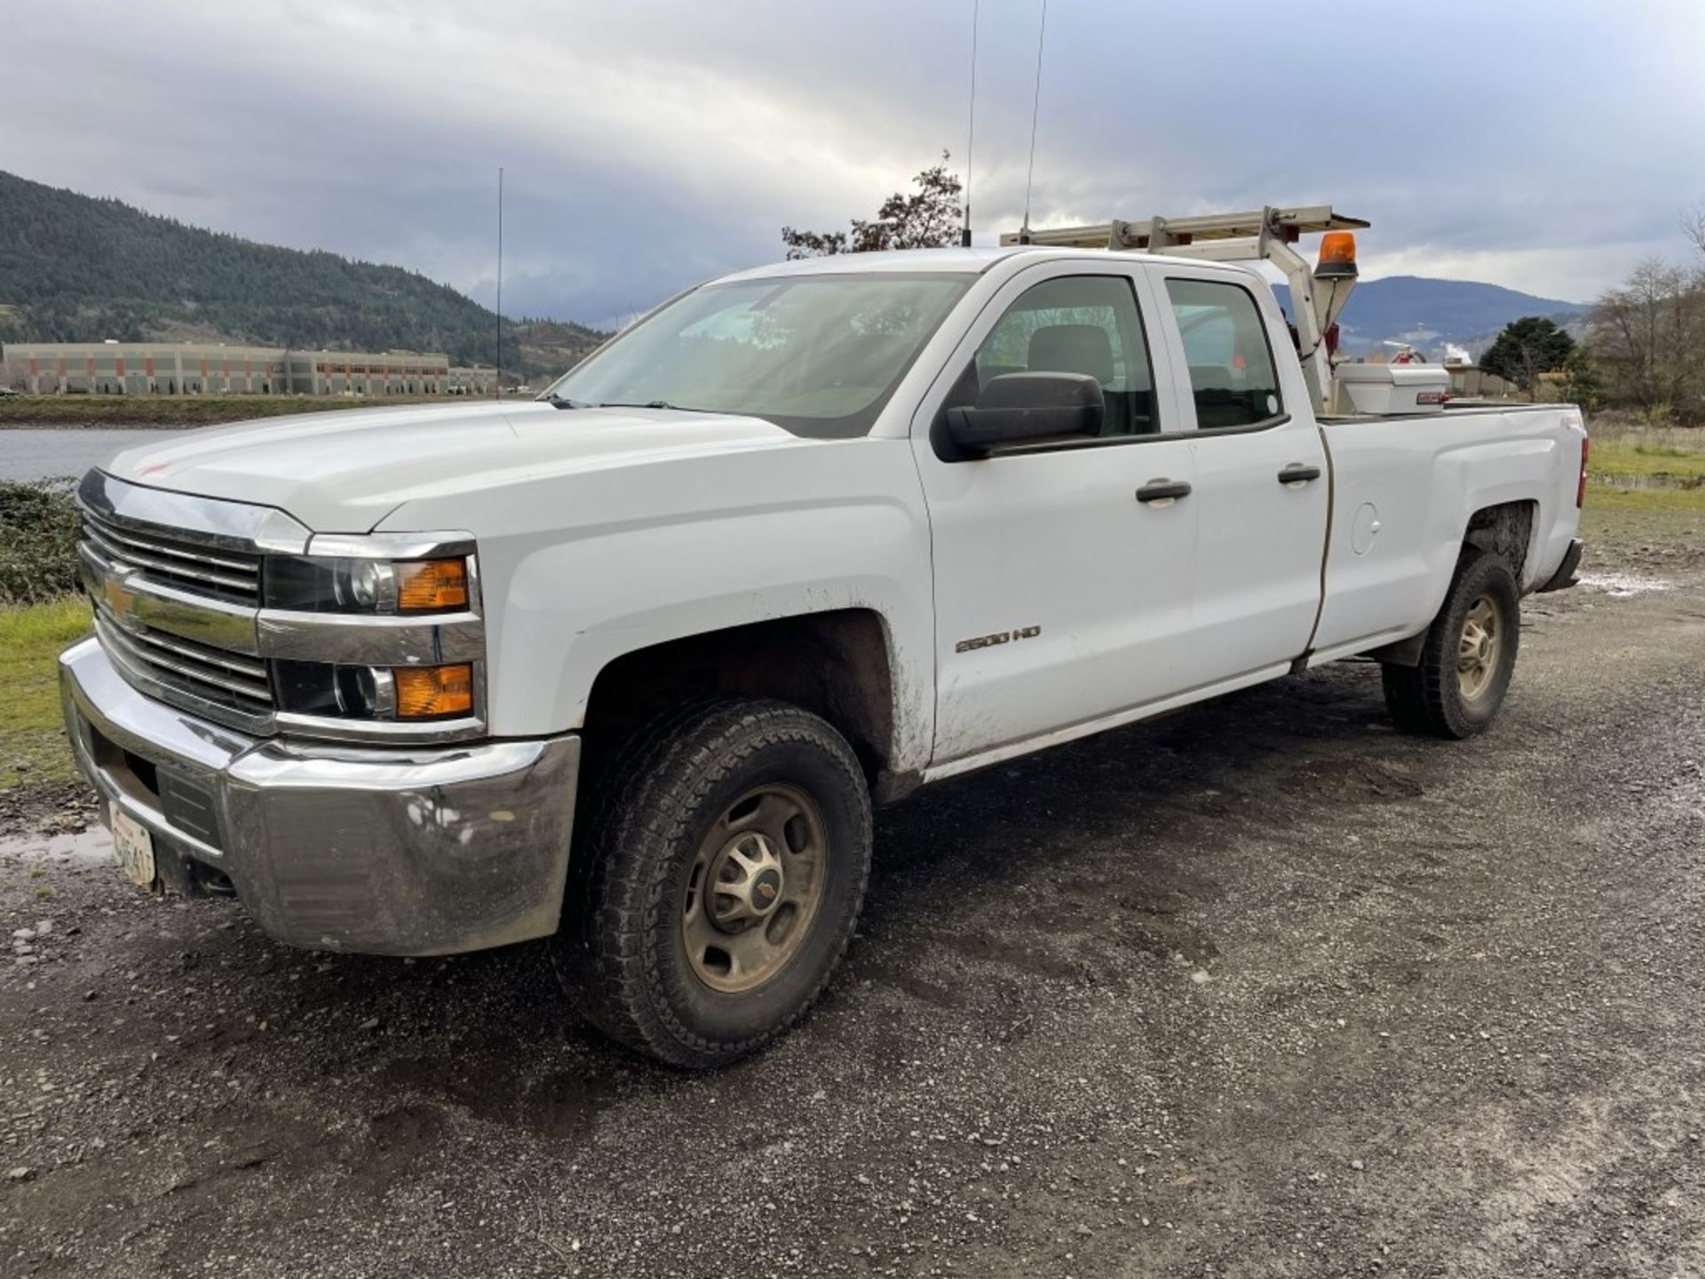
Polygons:
<instances>
[{"instance_id":1,"label":"distant blue mountain beyond the truck bed and toolbox","mask_svg":"<svg viewBox=\"0 0 1705 1279\"><path fill-rule=\"evenodd\" d=\"M1384 341L1403 341L1434 358L1442 356L1446 346L1461 346L1478 356L1506 324L1523 315L1545 315L1563 327L1579 327L1591 312L1592 307L1581 302L1473 280L1393 275L1357 285L1338 327L1347 351L1374 351Z\"/></svg>"}]
</instances>

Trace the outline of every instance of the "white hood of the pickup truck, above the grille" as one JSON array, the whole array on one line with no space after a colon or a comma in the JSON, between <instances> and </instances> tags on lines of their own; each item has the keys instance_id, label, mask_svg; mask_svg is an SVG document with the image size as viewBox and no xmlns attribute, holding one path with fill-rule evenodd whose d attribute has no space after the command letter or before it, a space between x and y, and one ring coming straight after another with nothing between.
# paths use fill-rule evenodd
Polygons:
<instances>
[{"instance_id":1,"label":"white hood of the pickup truck, above the grille","mask_svg":"<svg viewBox=\"0 0 1705 1279\"><path fill-rule=\"evenodd\" d=\"M537 401L338 409L162 435L102 467L148 488L276 506L368 532L421 496L742 449L810 447L759 418L558 409Z\"/></svg>"}]
</instances>

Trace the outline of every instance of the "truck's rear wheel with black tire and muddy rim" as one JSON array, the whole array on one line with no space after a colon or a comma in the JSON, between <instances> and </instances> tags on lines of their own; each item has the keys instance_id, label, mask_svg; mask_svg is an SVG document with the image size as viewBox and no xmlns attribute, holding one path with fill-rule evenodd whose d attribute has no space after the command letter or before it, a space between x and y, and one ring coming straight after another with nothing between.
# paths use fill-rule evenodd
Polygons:
<instances>
[{"instance_id":1,"label":"truck's rear wheel with black tire and muddy rim","mask_svg":"<svg viewBox=\"0 0 1705 1279\"><path fill-rule=\"evenodd\" d=\"M1381 667L1396 726L1458 740L1483 733L1504 704L1519 643L1521 602L1509 564L1471 551L1427 628L1420 662Z\"/></svg>"}]
</instances>

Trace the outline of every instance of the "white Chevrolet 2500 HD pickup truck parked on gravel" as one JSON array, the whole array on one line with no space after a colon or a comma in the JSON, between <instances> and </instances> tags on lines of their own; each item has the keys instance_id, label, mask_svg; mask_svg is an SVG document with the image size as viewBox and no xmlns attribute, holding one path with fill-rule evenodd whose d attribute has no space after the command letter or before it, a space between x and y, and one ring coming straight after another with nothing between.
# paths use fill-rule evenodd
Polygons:
<instances>
[{"instance_id":1,"label":"white Chevrolet 2500 HD pickup truck parked on gravel","mask_svg":"<svg viewBox=\"0 0 1705 1279\"><path fill-rule=\"evenodd\" d=\"M142 885L549 936L595 1025L731 1061L847 946L873 802L1355 655L1403 728L1494 718L1581 414L1323 416L1309 358L1205 256L842 256L539 401L162 437L78 491L77 759Z\"/></svg>"}]
</instances>

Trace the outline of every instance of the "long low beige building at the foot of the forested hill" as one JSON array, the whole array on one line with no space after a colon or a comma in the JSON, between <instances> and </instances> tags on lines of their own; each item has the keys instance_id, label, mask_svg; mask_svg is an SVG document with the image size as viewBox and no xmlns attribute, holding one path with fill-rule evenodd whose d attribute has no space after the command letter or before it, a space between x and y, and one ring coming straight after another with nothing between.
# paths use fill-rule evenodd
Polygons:
<instances>
[{"instance_id":1,"label":"long low beige building at the foot of the forested hill","mask_svg":"<svg viewBox=\"0 0 1705 1279\"><path fill-rule=\"evenodd\" d=\"M436 396L450 356L205 343L9 343L7 385L36 394Z\"/></svg>"}]
</instances>

